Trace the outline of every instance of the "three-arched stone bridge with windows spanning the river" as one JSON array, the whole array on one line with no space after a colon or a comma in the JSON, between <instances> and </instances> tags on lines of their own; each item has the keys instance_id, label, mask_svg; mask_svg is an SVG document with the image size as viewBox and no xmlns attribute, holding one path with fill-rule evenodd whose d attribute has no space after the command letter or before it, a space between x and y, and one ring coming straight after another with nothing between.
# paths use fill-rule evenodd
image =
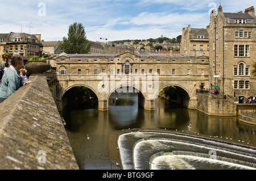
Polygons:
<instances>
[{"instance_id":1,"label":"three-arched stone bridge with windows spanning the river","mask_svg":"<svg viewBox=\"0 0 256 181\"><path fill-rule=\"evenodd\" d=\"M177 102L196 109L196 89L209 83L207 56L188 54L66 54L53 55L57 65L56 103L67 104L65 93L76 86L91 89L98 98L98 110L108 110L108 99L115 91L138 92L139 104L154 110L154 99L167 86L175 86Z\"/></svg>"}]
</instances>

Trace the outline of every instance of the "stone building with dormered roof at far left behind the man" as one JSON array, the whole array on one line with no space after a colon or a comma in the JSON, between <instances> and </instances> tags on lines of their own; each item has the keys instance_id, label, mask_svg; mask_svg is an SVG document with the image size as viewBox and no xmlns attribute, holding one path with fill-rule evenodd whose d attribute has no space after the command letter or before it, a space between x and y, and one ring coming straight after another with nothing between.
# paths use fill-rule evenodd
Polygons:
<instances>
[{"instance_id":1,"label":"stone building with dormered roof at far left behind the man","mask_svg":"<svg viewBox=\"0 0 256 181\"><path fill-rule=\"evenodd\" d=\"M27 33L0 33L0 54L10 53L11 56L20 54L23 57L34 56L40 50L41 35ZM2 56L0 57L2 60Z\"/></svg>"}]
</instances>

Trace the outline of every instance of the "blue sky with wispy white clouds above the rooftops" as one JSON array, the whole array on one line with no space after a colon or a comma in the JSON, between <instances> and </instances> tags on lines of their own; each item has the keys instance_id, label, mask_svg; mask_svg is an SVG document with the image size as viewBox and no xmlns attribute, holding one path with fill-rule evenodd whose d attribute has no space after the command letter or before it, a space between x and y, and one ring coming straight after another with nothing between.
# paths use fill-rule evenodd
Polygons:
<instances>
[{"instance_id":1,"label":"blue sky with wispy white clouds above the rooftops","mask_svg":"<svg viewBox=\"0 0 256 181\"><path fill-rule=\"evenodd\" d=\"M244 12L256 5L253 0L1 0L0 33L41 34L41 40L57 41L67 37L69 26L77 22L90 41L161 35L172 39L188 25L206 28L209 12L220 3L223 12Z\"/></svg>"}]
</instances>

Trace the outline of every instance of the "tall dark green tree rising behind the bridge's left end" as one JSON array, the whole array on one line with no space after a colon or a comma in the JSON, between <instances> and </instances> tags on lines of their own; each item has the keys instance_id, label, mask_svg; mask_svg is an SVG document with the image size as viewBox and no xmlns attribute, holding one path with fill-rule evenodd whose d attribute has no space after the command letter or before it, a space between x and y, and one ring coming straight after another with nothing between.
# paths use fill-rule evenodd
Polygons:
<instances>
[{"instance_id":1,"label":"tall dark green tree rising behind the bridge's left end","mask_svg":"<svg viewBox=\"0 0 256 181\"><path fill-rule=\"evenodd\" d=\"M82 23L73 23L69 26L68 37L63 37L60 49L65 53L86 54L90 53L90 43L86 40L84 26Z\"/></svg>"}]
</instances>

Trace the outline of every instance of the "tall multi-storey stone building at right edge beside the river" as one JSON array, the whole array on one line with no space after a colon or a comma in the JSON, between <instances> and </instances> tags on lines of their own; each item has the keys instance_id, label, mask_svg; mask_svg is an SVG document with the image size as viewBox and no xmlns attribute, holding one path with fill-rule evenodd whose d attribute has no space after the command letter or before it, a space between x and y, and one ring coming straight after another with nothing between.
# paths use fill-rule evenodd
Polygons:
<instances>
[{"instance_id":1,"label":"tall multi-storey stone building at right edge beside the river","mask_svg":"<svg viewBox=\"0 0 256 181\"><path fill-rule=\"evenodd\" d=\"M236 98L255 96L256 78L251 71L256 60L254 7L243 13L213 10L209 31L209 82Z\"/></svg>"}]
</instances>

